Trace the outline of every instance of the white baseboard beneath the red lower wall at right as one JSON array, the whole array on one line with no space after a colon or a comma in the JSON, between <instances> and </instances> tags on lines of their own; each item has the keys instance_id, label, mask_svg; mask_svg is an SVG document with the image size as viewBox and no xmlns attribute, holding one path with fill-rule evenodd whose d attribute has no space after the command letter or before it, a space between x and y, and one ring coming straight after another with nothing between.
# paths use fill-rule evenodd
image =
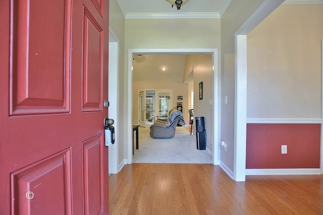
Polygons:
<instances>
[{"instance_id":1,"label":"white baseboard beneath the red lower wall at right","mask_svg":"<svg viewBox=\"0 0 323 215\"><path fill-rule=\"evenodd\" d=\"M246 175L320 175L319 168L308 169L246 169Z\"/></svg>"}]
</instances>

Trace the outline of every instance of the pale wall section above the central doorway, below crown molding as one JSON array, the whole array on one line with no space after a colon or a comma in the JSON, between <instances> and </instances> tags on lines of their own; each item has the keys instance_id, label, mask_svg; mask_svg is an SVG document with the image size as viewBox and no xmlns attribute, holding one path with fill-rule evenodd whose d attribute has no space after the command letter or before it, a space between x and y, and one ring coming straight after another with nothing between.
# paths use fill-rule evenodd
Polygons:
<instances>
[{"instance_id":1,"label":"pale wall section above the central doorway, below crown molding","mask_svg":"<svg viewBox=\"0 0 323 215\"><path fill-rule=\"evenodd\" d=\"M129 48L219 48L220 19L127 19Z\"/></svg>"}]
</instances>

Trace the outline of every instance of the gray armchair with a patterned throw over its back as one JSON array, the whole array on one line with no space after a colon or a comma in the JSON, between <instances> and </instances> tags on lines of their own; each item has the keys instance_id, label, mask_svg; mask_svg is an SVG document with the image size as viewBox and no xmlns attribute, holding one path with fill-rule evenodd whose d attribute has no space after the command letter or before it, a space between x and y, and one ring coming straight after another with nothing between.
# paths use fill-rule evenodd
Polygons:
<instances>
[{"instance_id":1,"label":"gray armchair with a patterned throw over its back","mask_svg":"<svg viewBox=\"0 0 323 215\"><path fill-rule=\"evenodd\" d=\"M173 110L166 122L156 120L150 125L149 135L153 138L172 138L177 124L185 125L184 118L180 111Z\"/></svg>"}]
</instances>

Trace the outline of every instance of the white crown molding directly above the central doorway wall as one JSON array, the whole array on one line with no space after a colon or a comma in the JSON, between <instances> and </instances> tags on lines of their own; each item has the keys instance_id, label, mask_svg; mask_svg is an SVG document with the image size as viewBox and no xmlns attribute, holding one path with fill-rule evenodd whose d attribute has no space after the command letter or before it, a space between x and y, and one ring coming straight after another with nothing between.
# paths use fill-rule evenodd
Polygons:
<instances>
[{"instance_id":1,"label":"white crown molding directly above the central doorway wall","mask_svg":"<svg viewBox=\"0 0 323 215\"><path fill-rule=\"evenodd\" d=\"M125 19L220 19L219 13L127 13Z\"/></svg>"}]
</instances>

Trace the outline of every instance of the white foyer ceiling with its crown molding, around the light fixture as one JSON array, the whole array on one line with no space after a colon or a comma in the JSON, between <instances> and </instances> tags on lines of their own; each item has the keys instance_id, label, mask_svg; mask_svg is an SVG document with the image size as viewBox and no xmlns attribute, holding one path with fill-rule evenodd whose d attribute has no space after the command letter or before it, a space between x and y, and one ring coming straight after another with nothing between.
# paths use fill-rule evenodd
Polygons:
<instances>
[{"instance_id":1,"label":"white foyer ceiling with its crown molding, around the light fixture","mask_svg":"<svg viewBox=\"0 0 323 215\"><path fill-rule=\"evenodd\" d=\"M175 1L175 0L174 0ZM117 0L126 19L220 18L231 0L190 0L177 10L165 0Z\"/></svg>"}]
</instances>

